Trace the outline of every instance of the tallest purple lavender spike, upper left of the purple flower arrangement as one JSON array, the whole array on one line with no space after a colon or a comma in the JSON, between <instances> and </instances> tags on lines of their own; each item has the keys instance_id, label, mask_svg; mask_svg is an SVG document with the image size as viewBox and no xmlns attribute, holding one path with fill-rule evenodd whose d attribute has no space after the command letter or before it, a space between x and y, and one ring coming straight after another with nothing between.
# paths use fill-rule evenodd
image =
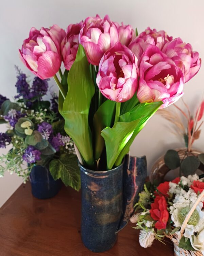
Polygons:
<instances>
[{"instance_id":1,"label":"tallest purple lavender spike, upper left of the purple flower arrangement","mask_svg":"<svg viewBox=\"0 0 204 256\"><path fill-rule=\"evenodd\" d=\"M26 82L26 79L26 74L19 73L19 75L17 75L17 82L15 86L17 88L18 95L15 96L15 98L19 98L20 96L25 97L26 99L28 98L28 95L30 93L30 86Z\"/></svg>"}]
</instances>

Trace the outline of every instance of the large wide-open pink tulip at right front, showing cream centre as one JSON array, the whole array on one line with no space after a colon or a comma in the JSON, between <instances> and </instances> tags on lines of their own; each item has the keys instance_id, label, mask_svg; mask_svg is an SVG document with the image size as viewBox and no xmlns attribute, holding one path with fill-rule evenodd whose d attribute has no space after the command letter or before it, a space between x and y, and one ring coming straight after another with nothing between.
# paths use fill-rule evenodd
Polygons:
<instances>
[{"instance_id":1,"label":"large wide-open pink tulip at right front, showing cream centre","mask_svg":"<svg viewBox=\"0 0 204 256\"><path fill-rule=\"evenodd\" d=\"M160 108L176 102L183 95L184 76L180 68L154 45L141 57L137 98L141 103L163 101Z\"/></svg>"}]
</instances>

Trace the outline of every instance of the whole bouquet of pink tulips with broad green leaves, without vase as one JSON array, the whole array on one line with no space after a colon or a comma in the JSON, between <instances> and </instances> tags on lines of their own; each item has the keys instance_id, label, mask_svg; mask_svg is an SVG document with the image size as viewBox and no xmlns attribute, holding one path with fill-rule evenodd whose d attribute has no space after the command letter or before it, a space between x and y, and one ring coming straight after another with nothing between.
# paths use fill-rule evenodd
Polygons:
<instances>
[{"instance_id":1,"label":"whole bouquet of pink tulips with broad green leaves, without vase","mask_svg":"<svg viewBox=\"0 0 204 256\"><path fill-rule=\"evenodd\" d=\"M92 170L119 166L149 118L181 98L201 66L198 52L180 38L150 28L138 35L107 15L66 31L31 28L19 53L36 76L54 77L65 131Z\"/></svg>"}]
</instances>

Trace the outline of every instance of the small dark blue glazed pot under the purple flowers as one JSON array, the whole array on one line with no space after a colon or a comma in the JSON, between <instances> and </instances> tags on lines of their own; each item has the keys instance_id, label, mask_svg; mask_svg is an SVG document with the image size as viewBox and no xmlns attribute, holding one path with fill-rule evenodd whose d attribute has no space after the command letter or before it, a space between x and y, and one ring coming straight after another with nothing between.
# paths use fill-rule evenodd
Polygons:
<instances>
[{"instance_id":1,"label":"small dark blue glazed pot under the purple flowers","mask_svg":"<svg viewBox=\"0 0 204 256\"><path fill-rule=\"evenodd\" d=\"M62 181L54 180L48 168L41 165L33 166L30 173L32 194L39 199L55 196L62 186Z\"/></svg>"}]
</instances>

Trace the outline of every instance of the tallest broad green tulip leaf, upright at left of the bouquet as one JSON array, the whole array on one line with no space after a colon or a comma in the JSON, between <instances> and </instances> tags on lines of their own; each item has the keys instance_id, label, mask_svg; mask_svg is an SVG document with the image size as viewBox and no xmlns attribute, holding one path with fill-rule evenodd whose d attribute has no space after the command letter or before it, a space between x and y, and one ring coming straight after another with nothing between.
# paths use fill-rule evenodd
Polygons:
<instances>
[{"instance_id":1,"label":"tallest broad green tulip leaf, upright at left of the bouquet","mask_svg":"<svg viewBox=\"0 0 204 256\"><path fill-rule=\"evenodd\" d=\"M63 104L65 131L73 139L85 163L92 167L94 157L88 115L95 87L90 77L86 54L81 44L69 71L67 81L68 92Z\"/></svg>"}]
</instances>

